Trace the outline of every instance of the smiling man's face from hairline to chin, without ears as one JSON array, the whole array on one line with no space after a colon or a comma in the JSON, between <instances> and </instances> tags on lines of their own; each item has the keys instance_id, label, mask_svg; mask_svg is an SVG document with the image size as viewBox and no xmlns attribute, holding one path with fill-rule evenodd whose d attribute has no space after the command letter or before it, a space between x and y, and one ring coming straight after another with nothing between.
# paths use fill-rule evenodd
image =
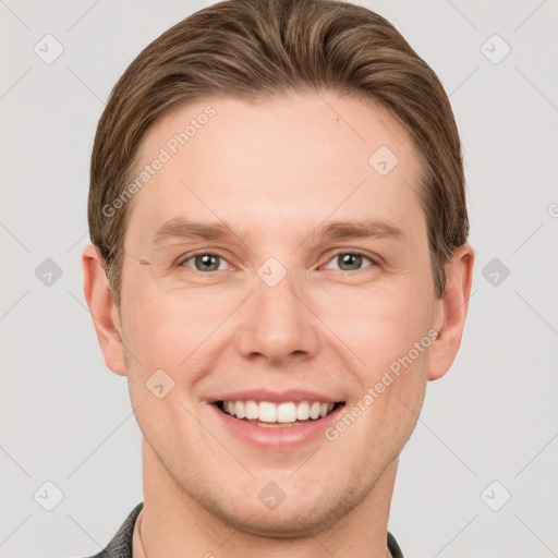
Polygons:
<instances>
[{"instance_id":1,"label":"smiling man's face from hairline to chin, without ears","mask_svg":"<svg viewBox=\"0 0 558 558\"><path fill-rule=\"evenodd\" d=\"M397 463L424 397L439 301L416 151L383 109L333 92L175 109L137 173L161 148L122 275L145 442L232 525L326 526Z\"/></svg>"}]
</instances>

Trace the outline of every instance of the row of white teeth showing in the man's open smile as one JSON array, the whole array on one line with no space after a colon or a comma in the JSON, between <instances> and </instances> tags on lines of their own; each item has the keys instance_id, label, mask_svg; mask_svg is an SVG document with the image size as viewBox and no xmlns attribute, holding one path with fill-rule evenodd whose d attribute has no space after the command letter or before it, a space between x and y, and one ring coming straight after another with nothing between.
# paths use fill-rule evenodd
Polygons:
<instances>
[{"instance_id":1,"label":"row of white teeth showing in the man's open smile","mask_svg":"<svg viewBox=\"0 0 558 558\"><path fill-rule=\"evenodd\" d=\"M319 421L344 404L320 401L216 401L217 408L234 418L267 428L303 426Z\"/></svg>"}]
</instances>

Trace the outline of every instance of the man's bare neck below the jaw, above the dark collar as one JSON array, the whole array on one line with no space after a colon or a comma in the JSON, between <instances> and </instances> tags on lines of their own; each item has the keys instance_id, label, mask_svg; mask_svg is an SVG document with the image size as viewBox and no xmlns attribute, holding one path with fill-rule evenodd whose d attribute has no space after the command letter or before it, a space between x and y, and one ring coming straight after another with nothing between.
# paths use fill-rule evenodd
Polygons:
<instances>
[{"instance_id":1,"label":"man's bare neck below the jaw, above the dark collar","mask_svg":"<svg viewBox=\"0 0 558 558\"><path fill-rule=\"evenodd\" d=\"M150 446L142 440L144 507L142 543L146 558L390 557L387 523L398 460L372 490L332 526L295 538L256 535L223 522L181 489Z\"/></svg>"}]
</instances>

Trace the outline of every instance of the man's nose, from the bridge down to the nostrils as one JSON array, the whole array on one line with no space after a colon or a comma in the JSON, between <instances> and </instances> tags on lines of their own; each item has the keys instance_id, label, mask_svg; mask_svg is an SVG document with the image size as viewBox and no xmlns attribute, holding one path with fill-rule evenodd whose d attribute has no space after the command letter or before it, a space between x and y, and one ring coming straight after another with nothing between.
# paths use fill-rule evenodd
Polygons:
<instances>
[{"instance_id":1,"label":"man's nose, from the bridge down to the nostrils","mask_svg":"<svg viewBox=\"0 0 558 558\"><path fill-rule=\"evenodd\" d=\"M242 307L236 336L243 356L287 364L317 354L319 320L298 293L295 282L289 272L274 287L255 278L254 293Z\"/></svg>"}]
</instances>

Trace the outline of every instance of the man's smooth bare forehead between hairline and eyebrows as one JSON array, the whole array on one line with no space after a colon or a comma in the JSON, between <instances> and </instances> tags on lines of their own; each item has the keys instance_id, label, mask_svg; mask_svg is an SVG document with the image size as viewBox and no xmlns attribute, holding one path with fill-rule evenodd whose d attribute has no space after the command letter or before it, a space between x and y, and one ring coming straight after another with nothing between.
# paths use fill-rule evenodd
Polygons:
<instances>
[{"instance_id":1,"label":"man's smooth bare forehead between hairline and eyebrows","mask_svg":"<svg viewBox=\"0 0 558 558\"><path fill-rule=\"evenodd\" d=\"M425 231L408 132L381 107L333 92L178 107L147 132L141 174L128 232L142 243L181 216L254 234L294 234L328 217Z\"/></svg>"}]
</instances>

